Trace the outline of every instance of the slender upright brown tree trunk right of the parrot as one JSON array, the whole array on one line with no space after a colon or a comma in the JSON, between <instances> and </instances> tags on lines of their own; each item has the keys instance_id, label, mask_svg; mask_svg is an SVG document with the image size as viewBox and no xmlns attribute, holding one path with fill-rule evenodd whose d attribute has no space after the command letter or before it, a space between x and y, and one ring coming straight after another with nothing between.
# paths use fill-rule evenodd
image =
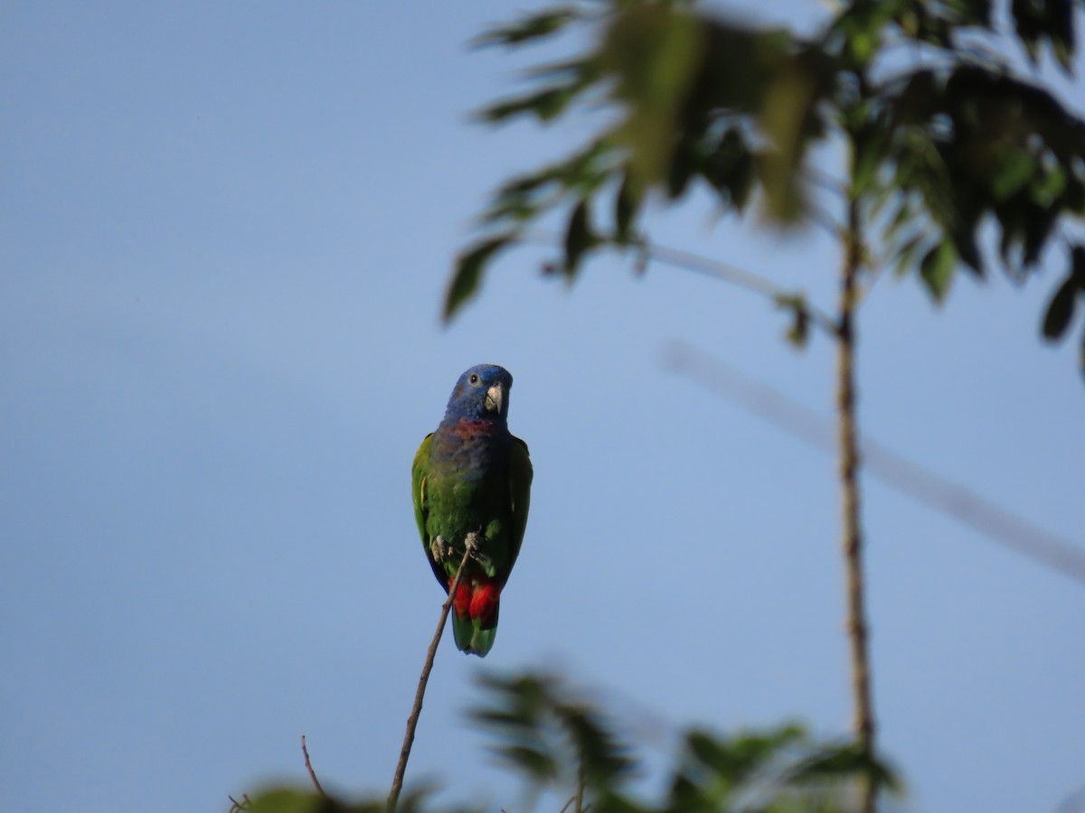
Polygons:
<instances>
[{"instance_id":1,"label":"slender upright brown tree trunk right of the parrot","mask_svg":"<svg viewBox=\"0 0 1085 813\"><path fill-rule=\"evenodd\" d=\"M852 727L866 763L875 756L875 718L870 696L870 653L863 572L863 527L859 507L859 450L855 409L855 309L863 263L859 209L854 196L847 206L847 234L840 287L837 337L837 410L840 426L840 480L843 502L843 553L847 603L847 640L852 660ZM877 810L878 788L867 777L861 789L863 813Z\"/></svg>"}]
</instances>

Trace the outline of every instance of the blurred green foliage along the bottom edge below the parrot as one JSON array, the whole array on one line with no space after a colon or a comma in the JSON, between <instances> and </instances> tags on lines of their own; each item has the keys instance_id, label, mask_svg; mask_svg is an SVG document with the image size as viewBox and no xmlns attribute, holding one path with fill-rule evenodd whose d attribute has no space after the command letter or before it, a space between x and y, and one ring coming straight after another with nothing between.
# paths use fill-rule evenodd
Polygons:
<instances>
[{"instance_id":1,"label":"blurred green foliage along the bottom edge below the parrot","mask_svg":"<svg viewBox=\"0 0 1085 813\"><path fill-rule=\"evenodd\" d=\"M519 776L533 798L551 790L570 811L593 813L843 813L856 809L858 783L899 793L893 771L863 756L851 741L817 741L797 724L720 735L691 728L680 737L661 798L634 786L643 770L633 744L598 704L546 673L480 679L483 704L471 719L492 738L490 752ZM469 754L461 759L470 761ZM653 783L654 785L654 783ZM399 813L436 810L416 790ZM482 810L480 800L458 810ZM381 813L385 800L349 804L316 792L277 788L245 799L251 813ZM505 806L505 810L512 808ZM447 810L447 808L446 808ZM231 811L232 813L232 811ZM557 811L556 811L557 813Z\"/></svg>"}]
</instances>

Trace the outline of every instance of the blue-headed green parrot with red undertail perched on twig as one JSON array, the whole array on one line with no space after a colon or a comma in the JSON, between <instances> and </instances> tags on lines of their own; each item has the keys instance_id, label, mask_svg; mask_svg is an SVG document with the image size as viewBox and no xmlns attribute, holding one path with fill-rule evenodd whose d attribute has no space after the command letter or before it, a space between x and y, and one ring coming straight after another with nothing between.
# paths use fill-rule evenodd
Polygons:
<instances>
[{"instance_id":1,"label":"blue-headed green parrot with red undertail perched on twig","mask_svg":"<svg viewBox=\"0 0 1085 813\"><path fill-rule=\"evenodd\" d=\"M452 597L452 634L457 648L480 658L494 646L531 504L527 444L509 433L511 387L512 375L497 364L465 371L411 467L422 547L446 594L471 550Z\"/></svg>"}]
</instances>

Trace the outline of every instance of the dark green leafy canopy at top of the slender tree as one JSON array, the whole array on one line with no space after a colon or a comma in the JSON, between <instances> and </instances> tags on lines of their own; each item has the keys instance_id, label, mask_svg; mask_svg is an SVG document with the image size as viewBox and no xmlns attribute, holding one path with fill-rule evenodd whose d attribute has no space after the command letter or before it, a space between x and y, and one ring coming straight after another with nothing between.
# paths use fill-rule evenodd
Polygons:
<instances>
[{"instance_id":1,"label":"dark green leafy canopy at top of the slender tree","mask_svg":"<svg viewBox=\"0 0 1085 813\"><path fill-rule=\"evenodd\" d=\"M579 111L603 124L565 159L494 193L457 260L445 318L540 217L563 219L561 257L546 268L573 281L592 251L643 245L650 196L674 203L700 186L724 212L756 199L778 225L825 222L829 206L855 201L866 270L915 274L935 302L959 268L982 278L995 260L1023 280L1064 248L1070 270L1043 321L1046 338L1062 338L1085 295L1070 231L1085 217L1085 121L1035 68L1049 54L1072 72L1074 7L855 0L804 38L681 0L584 0L494 28L478 44L520 49L573 30L589 46L528 69L527 91L481 120ZM828 141L846 145L847 177L819 186L807 156Z\"/></svg>"}]
</instances>

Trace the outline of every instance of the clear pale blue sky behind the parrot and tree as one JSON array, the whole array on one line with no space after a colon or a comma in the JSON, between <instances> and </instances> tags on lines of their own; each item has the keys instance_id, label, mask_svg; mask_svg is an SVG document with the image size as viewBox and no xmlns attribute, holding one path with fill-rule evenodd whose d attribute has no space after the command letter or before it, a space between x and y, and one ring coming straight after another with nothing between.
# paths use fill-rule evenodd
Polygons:
<instances>
[{"instance_id":1,"label":"clear pale blue sky behind the parrot and tree","mask_svg":"<svg viewBox=\"0 0 1085 813\"><path fill-rule=\"evenodd\" d=\"M326 786L386 792L442 599L410 461L482 361L515 376L536 469L485 664L558 666L664 750L692 722L846 731L832 460L661 363L689 341L828 415L831 347L796 352L761 300L663 267L600 260L569 291L532 249L443 327L488 190L586 126L472 125L519 63L467 42L508 7L422 14L0 12L4 810L224 810L304 782L303 733ZM717 223L703 199L650 228L831 301L819 232ZM942 310L879 283L860 420L1085 545L1076 348L1038 339L1060 274L961 278ZM876 481L866 500L906 809L1054 810L1085 786L1085 588ZM510 809L463 719L478 668L443 642L408 784Z\"/></svg>"}]
</instances>

